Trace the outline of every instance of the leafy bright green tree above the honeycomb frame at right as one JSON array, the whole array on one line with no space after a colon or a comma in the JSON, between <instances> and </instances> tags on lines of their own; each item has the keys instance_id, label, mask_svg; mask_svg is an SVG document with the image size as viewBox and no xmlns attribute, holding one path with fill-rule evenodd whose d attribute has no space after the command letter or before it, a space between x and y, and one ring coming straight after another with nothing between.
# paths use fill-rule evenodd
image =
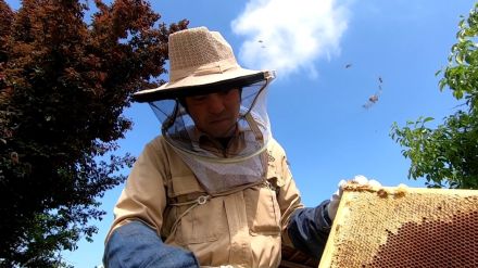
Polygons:
<instances>
[{"instance_id":1,"label":"leafy bright green tree above the honeycomb frame at right","mask_svg":"<svg viewBox=\"0 0 478 268\"><path fill-rule=\"evenodd\" d=\"M425 177L429 187L478 189L478 3L458 27L439 88L463 103L435 129L426 127L433 118L420 117L403 128L394 123L391 137L406 148L410 178Z\"/></svg>"}]
</instances>

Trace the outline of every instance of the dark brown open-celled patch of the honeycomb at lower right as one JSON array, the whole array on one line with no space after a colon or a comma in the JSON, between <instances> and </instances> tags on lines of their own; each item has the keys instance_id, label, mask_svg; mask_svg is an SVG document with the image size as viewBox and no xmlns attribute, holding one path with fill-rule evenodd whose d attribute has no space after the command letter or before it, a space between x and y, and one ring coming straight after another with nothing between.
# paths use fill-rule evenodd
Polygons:
<instances>
[{"instance_id":1,"label":"dark brown open-celled patch of the honeycomb at lower right","mask_svg":"<svg viewBox=\"0 0 478 268\"><path fill-rule=\"evenodd\" d=\"M474 213L451 221L406 222L379 246L367 267L465 267L478 255L478 225ZM478 267L478 263L475 266Z\"/></svg>"}]
</instances>

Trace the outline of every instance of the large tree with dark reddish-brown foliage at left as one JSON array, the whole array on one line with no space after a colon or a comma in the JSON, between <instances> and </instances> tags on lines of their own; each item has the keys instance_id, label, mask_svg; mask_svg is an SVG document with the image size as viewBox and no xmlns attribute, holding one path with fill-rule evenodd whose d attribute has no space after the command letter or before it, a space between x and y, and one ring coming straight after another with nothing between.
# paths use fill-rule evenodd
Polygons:
<instances>
[{"instance_id":1,"label":"large tree with dark reddish-brown foliage at left","mask_svg":"<svg viewBox=\"0 0 478 268\"><path fill-rule=\"evenodd\" d=\"M131 93L164 82L165 25L142 0L0 0L0 266L58 267L125 180Z\"/></svg>"}]
</instances>

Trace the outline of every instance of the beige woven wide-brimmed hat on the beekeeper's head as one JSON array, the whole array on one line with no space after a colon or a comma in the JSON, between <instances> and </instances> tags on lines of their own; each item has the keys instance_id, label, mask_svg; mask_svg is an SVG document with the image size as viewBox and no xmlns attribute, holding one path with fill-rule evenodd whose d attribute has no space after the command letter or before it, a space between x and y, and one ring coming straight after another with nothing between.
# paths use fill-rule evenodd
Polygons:
<instances>
[{"instance_id":1,"label":"beige woven wide-brimmed hat on the beekeeper's head","mask_svg":"<svg viewBox=\"0 0 478 268\"><path fill-rule=\"evenodd\" d=\"M242 68L230 44L206 27L169 35L169 81L134 94L135 101L153 102L244 87L274 77L273 72Z\"/></svg>"}]
</instances>

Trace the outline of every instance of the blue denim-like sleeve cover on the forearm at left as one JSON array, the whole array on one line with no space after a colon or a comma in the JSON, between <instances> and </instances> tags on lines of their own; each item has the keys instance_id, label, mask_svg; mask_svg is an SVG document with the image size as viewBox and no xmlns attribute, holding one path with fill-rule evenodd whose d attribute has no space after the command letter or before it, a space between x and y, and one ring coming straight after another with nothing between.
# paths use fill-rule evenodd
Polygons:
<instances>
[{"instance_id":1,"label":"blue denim-like sleeve cover on the forearm at left","mask_svg":"<svg viewBox=\"0 0 478 268\"><path fill-rule=\"evenodd\" d=\"M130 221L113 231L104 250L103 264L105 268L199 267L191 252L164 244L153 229L140 221Z\"/></svg>"}]
</instances>

